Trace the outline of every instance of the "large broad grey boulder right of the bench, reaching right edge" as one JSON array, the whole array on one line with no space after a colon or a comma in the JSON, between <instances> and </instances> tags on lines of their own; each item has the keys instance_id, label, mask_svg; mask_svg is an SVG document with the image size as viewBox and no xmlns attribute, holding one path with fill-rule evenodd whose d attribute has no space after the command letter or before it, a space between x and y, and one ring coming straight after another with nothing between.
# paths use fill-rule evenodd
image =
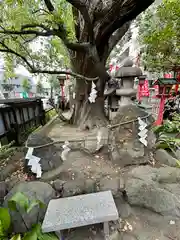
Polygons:
<instances>
[{"instance_id":1,"label":"large broad grey boulder right of the bench, reaching right edge","mask_svg":"<svg viewBox=\"0 0 180 240\"><path fill-rule=\"evenodd\" d=\"M126 182L128 202L131 205L151 209L162 215L180 217L179 198L160 188L154 181L128 179Z\"/></svg>"}]
</instances>

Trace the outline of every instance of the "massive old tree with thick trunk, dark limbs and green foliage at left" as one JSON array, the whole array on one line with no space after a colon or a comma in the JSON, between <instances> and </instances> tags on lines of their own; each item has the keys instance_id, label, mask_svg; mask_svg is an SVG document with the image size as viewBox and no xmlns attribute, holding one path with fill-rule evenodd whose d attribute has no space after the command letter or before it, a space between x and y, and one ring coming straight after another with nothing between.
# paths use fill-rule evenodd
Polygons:
<instances>
[{"instance_id":1,"label":"massive old tree with thick trunk, dark limbs and green foliage at left","mask_svg":"<svg viewBox=\"0 0 180 240\"><path fill-rule=\"evenodd\" d=\"M64 74L62 55L76 77L72 122L82 128L106 124L107 58L130 21L154 0L4 0L0 3L0 51L16 56L32 73ZM46 39L46 41L44 41ZM36 49L37 41L41 49ZM88 101L92 81L97 99Z\"/></svg>"}]
</instances>

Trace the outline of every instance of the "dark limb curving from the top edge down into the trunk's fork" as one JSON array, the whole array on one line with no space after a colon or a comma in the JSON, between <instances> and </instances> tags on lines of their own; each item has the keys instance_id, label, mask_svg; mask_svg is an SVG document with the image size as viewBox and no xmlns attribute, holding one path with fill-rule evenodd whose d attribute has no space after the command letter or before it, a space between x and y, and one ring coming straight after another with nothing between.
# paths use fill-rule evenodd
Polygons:
<instances>
[{"instance_id":1,"label":"dark limb curving from the top edge down into the trunk's fork","mask_svg":"<svg viewBox=\"0 0 180 240\"><path fill-rule=\"evenodd\" d=\"M79 0L67 0L67 2L69 2L72 6L74 6L76 9L78 9L80 11L80 13L82 14L84 21L85 21L85 25L86 25L88 33L89 33L89 41L91 44L94 44L95 39L94 39L93 24L92 24L91 18L89 16L89 12L88 12L86 5Z\"/></svg>"}]
</instances>

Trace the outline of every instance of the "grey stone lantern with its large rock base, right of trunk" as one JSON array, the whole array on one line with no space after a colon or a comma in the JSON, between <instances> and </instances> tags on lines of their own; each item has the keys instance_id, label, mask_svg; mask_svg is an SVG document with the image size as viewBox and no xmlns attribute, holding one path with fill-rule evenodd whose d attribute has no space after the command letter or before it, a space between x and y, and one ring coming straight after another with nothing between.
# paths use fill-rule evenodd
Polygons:
<instances>
[{"instance_id":1,"label":"grey stone lantern with its large rock base, right of trunk","mask_svg":"<svg viewBox=\"0 0 180 240\"><path fill-rule=\"evenodd\" d=\"M120 98L119 109L111 125L121 125L112 128L109 143L112 161L122 167L148 163L149 152L155 143L155 137L150 131L153 118L131 101L131 98L136 96L136 90L133 88L135 77L140 75L142 75L141 69L133 67L130 59L126 59L116 73L116 78L121 78L122 86L116 90L116 95ZM139 118L147 125L146 146L138 136Z\"/></svg>"}]
</instances>

